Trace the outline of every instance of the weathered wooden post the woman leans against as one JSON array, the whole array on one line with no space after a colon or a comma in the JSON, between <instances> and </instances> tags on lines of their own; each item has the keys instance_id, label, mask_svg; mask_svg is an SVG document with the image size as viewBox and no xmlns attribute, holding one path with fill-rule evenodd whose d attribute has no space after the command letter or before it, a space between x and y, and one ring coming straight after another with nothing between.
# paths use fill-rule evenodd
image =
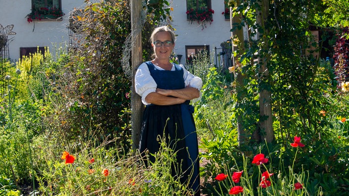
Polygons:
<instances>
[{"instance_id":1,"label":"weathered wooden post the woman leans against","mask_svg":"<svg viewBox=\"0 0 349 196\"><path fill-rule=\"evenodd\" d=\"M140 132L143 118L143 104L141 97L135 92L134 89L134 75L138 66L142 63L142 27L141 24L141 8L142 0L131 0L131 33L132 33L132 148L138 149Z\"/></svg>"}]
</instances>

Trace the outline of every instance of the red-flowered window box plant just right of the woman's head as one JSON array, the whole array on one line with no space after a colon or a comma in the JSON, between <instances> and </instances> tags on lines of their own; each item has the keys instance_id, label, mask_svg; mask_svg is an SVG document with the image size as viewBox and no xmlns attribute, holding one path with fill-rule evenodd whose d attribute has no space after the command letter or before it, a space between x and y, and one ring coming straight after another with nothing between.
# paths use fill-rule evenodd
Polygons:
<instances>
[{"instance_id":1,"label":"red-flowered window box plant just right of the woman's head","mask_svg":"<svg viewBox=\"0 0 349 196\"><path fill-rule=\"evenodd\" d=\"M201 24L202 29L204 29L204 27L206 28L206 23L212 24L215 11L207 7L202 7L199 9L190 8L185 13L191 24L197 22Z\"/></svg>"}]
</instances>

